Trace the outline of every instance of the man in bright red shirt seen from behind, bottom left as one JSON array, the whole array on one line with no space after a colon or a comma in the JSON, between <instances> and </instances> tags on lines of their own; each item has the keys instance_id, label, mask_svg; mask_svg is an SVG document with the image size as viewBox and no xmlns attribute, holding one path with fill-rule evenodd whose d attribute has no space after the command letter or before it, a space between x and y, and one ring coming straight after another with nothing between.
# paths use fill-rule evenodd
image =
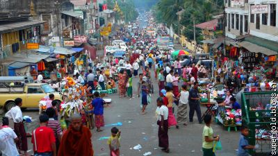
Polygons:
<instances>
[{"instance_id":1,"label":"man in bright red shirt seen from behind, bottom left","mask_svg":"<svg viewBox=\"0 0 278 156\"><path fill-rule=\"evenodd\" d=\"M54 131L47 127L49 117L40 115L40 127L33 131L32 144L35 156L56 156L56 139Z\"/></svg>"}]
</instances>

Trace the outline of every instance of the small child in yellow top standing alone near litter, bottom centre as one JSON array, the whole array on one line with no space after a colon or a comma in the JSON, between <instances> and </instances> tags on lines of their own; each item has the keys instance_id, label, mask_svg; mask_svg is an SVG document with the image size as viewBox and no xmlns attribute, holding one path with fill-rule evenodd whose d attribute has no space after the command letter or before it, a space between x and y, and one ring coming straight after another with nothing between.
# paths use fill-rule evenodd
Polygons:
<instances>
[{"instance_id":1,"label":"small child in yellow top standing alone near litter, bottom centre","mask_svg":"<svg viewBox=\"0 0 278 156\"><path fill-rule=\"evenodd\" d=\"M111 156L120 156L120 136L121 131L119 129L116 127L111 128L111 137L107 141Z\"/></svg>"}]
</instances>

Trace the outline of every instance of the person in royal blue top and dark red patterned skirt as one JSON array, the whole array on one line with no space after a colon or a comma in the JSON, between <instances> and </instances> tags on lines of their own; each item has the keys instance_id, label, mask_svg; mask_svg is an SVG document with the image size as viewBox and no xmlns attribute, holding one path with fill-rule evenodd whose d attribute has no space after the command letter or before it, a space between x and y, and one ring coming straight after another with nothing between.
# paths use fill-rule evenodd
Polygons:
<instances>
[{"instance_id":1,"label":"person in royal blue top and dark red patterned skirt","mask_svg":"<svg viewBox=\"0 0 278 156\"><path fill-rule=\"evenodd\" d=\"M99 97L99 92L94 93L94 100L92 101L92 107L94 107L95 114L95 126L97 132L101 132L101 127L104 127L104 104L105 101Z\"/></svg>"}]
</instances>

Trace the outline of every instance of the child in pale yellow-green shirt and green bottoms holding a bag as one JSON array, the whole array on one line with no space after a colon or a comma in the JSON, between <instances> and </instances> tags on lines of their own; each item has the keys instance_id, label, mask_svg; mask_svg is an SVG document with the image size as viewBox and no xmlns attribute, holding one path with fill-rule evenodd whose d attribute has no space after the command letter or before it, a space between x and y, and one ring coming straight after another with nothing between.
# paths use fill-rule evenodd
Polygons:
<instances>
[{"instance_id":1,"label":"child in pale yellow-green shirt and green bottoms holding a bag","mask_svg":"<svg viewBox=\"0 0 278 156\"><path fill-rule=\"evenodd\" d=\"M204 156L215 156L213 152L213 141L219 141L219 137L213 137L213 128L211 128L211 115L206 114L204 116L204 130L203 130L203 155Z\"/></svg>"}]
</instances>

